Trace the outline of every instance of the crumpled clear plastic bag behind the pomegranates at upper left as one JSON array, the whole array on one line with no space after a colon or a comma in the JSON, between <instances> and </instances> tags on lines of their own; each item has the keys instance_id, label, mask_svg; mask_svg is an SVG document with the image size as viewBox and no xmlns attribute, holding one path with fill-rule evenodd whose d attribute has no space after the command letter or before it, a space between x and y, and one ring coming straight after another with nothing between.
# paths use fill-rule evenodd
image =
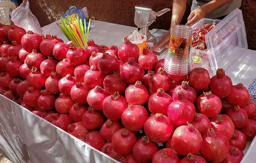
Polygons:
<instances>
[{"instance_id":1,"label":"crumpled clear plastic bag behind the pomegranates at upper left","mask_svg":"<svg viewBox=\"0 0 256 163\"><path fill-rule=\"evenodd\" d=\"M16 26L24 28L27 32L43 33L37 17L33 15L29 8L28 0L23 0L23 3L11 12L11 17Z\"/></svg>"}]
</instances>

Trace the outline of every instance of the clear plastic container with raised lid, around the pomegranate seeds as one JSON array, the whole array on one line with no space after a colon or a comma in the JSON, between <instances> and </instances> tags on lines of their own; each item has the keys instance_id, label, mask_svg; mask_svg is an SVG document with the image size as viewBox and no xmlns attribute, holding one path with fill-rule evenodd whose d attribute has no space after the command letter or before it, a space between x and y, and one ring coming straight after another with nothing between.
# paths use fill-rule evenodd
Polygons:
<instances>
[{"instance_id":1,"label":"clear plastic container with raised lid, around the pomegranate seeds","mask_svg":"<svg viewBox=\"0 0 256 163\"><path fill-rule=\"evenodd\" d=\"M215 23L216 26L205 36L207 51L192 48L193 68L202 67L214 76L218 68L227 67L228 58L234 48L247 49L246 31L242 11L235 9L223 20L202 19L192 26L201 28L203 24Z\"/></svg>"}]
</instances>

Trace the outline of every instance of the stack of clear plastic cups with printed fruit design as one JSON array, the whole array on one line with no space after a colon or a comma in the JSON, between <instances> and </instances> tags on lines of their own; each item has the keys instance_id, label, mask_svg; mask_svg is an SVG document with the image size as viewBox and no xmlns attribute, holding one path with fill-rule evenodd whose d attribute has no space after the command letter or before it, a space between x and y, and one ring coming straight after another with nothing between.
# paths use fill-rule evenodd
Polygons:
<instances>
[{"instance_id":1,"label":"stack of clear plastic cups with printed fruit design","mask_svg":"<svg viewBox=\"0 0 256 163\"><path fill-rule=\"evenodd\" d=\"M192 28L176 25L171 34L168 53L164 59L164 70L175 81L182 81L192 70L191 51Z\"/></svg>"}]
</instances>

